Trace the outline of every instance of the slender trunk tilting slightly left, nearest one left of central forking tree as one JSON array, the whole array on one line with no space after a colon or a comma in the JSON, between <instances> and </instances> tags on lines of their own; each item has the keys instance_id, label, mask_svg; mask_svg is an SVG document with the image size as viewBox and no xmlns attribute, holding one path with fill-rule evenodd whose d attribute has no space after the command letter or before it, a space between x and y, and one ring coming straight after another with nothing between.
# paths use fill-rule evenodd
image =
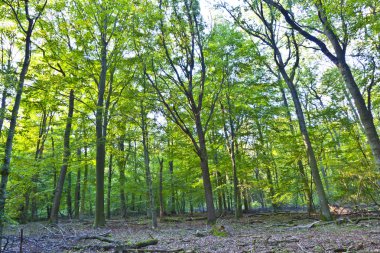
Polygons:
<instances>
[{"instance_id":1,"label":"slender trunk tilting slightly left, nearest one left of central forking tree","mask_svg":"<svg viewBox=\"0 0 380 253\"><path fill-rule=\"evenodd\" d=\"M154 201L153 194L153 183L152 175L150 172L150 159L149 159L149 149L148 149L148 126L146 122L146 112L143 103L141 102L141 130L142 130L142 143L144 148L144 165L145 165L145 176L146 176L146 186L148 189L149 196L149 214L152 218L152 228L157 228L157 214L156 214L156 205Z\"/></svg>"}]
</instances>

